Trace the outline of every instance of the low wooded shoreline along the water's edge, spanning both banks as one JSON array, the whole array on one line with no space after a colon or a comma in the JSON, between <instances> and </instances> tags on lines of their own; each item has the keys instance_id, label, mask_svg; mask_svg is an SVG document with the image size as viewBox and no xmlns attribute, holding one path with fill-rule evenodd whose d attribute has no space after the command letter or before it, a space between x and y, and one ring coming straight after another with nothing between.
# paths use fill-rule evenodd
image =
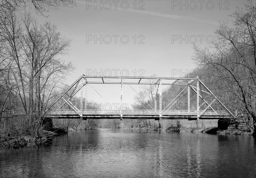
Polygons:
<instances>
[{"instance_id":1,"label":"low wooded shoreline along the water's edge, spanning both banks","mask_svg":"<svg viewBox=\"0 0 256 178\"><path fill-rule=\"evenodd\" d=\"M188 121L189 122L189 121ZM191 122L191 121L190 121ZM97 128L97 127L96 127ZM96 128L84 128L84 129L96 129ZM103 128L103 127L99 127ZM241 130L235 128L232 124L225 130L221 130L220 128L216 126L207 126L207 127L194 127L194 126L177 126L177 124L170 124L167 127L164 128L153 128L153 127L146 127L140 126L140 127L128 127L124 125L120 126L109 126L104 127L105 129L133 129L133 130L154 130L154 131L164 131L164 132L201 132L201 133L208 133L208 134L217 134L217 135L253 135L252 132L249 132L249 130ZM45 133L44 136L41 136L40 138L32 137L31 135L24 135L19 137L14 137L10 135L1 136L0 137L0 148L1 149L19 149L23 147L38 147L38 146L45 146L45 145L51 145L52 144L52 138L59 137L61 135L67 134L68 132L76 132L79 130L83 130L81 128L69 128L67 131L61 128L55 128L51 131L44 130Z\"/></svg>"}]
</instances>

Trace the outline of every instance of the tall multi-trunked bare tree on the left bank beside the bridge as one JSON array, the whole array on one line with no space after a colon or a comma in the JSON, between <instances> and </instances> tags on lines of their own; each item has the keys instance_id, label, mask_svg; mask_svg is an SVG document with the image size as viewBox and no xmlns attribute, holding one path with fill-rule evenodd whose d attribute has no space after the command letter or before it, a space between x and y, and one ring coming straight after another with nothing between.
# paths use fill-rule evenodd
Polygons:
<instances>
[{"instance_id":1,"label":"tall multi-trunked bare tree on the left bank beside the bridge","mask_svg":"<svg viewBox=\"0 0 256 178\"><path fill-rule=\"evenodd\" d=\"M63 84L65 76L73 70L72 63L59 58L67 54L71 40L62 37L49 22L39 25L29 13L19 17L12 9L6 11L9 17L0 26L3 39L0 41L0 63L4 64L0 72L1 79L5 79L0 81L4 84L0 88L9 90L3 93L6 98L0 96L1 113L6 110L4 105L12 95L16 103L10 107L26 113L23 125L27 127L26 132L39 138L44 129L42 111Z\"/></svg>"}]
</instances>

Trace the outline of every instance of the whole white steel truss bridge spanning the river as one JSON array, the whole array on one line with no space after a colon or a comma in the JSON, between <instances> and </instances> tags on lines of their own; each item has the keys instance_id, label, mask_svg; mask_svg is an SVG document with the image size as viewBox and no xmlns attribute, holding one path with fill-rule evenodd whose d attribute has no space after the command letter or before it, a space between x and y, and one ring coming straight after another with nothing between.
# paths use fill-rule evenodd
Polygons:
<instances>
[{"instance_id":1,"label":"whole white steel truss bridge spanning the river","mask_svg":"<svg viewBox=\"0 0 256 178\"><path fill-rule=\"evenodd\" d=\"M123 86L150 85L154 89L154 108L151 109L87 109L87 87L92 84L113 84L120 87L120 104L122 106ZM181 92L163 108L162 87L177 86ZM183 88L183 89L182 89ZM133 89L133 88L132 88ZM80 95L80 107L73 104L72 98ZM158 102L157 102L158 101ZM177 102L186 102L186 109L177 110L172 106ZM157 103L159 105L157 106ZM196 108L191 108L191 103ZM70 108L70 109L67 109ZM146 107L145 107L146 108ZM216 109L221 108L221 109ZM47 118L87 118L106 119L221 119L233 118L233 114L199 78L162 78L162 77L103 77L81 75L43 114Z\"/></svg>"}]
</instances>

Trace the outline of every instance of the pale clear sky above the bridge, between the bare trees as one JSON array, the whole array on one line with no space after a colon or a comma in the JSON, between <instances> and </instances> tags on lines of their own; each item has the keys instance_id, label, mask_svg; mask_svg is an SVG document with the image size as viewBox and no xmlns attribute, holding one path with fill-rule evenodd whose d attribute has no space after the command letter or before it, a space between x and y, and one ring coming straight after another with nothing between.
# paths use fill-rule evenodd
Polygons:
<instances>
[{"instance_id":1,"label":"pale clear sky above the bridge, between the bare trees","mask_svg":"<svg viewBox=\"0 0 256 178\"><path fill-rule=\"evenodd\" d=\"M193 43L210 45L219 22L229 17L245 0L76 0L76 6L48 7L39 23L55 24L72 39L68 55L76 67L67 76L72 84L84 75L184 77L194 69ZM195 72L193 76L196 77ZM111 86L113 87L113 86ZM88 100L118 102L120 86L88 88ZM125 86L123 98L135 102L136 93ZM134 86L138 91L140 88ZM127 93L125 93L127 91ZM113 99L115 98L115 99Z\"/></svg>"}]
</instances>

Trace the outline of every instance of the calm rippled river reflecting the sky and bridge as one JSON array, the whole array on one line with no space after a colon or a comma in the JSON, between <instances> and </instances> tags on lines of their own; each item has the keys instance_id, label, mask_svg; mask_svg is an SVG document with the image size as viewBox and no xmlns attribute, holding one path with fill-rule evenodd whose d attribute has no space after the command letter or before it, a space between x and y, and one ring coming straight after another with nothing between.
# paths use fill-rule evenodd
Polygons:
<instances>
[{"instance_id":1,"label":"calm rippled river reflecting the sky and bridge","mask_svg":"<svg viewBox=\"0 0 256 178\"><path fill-rule=\"evenodd\" d=\"M253 136L93 129L0 150L2 178L256 177Z\"/></svg>"}]
</instances>

